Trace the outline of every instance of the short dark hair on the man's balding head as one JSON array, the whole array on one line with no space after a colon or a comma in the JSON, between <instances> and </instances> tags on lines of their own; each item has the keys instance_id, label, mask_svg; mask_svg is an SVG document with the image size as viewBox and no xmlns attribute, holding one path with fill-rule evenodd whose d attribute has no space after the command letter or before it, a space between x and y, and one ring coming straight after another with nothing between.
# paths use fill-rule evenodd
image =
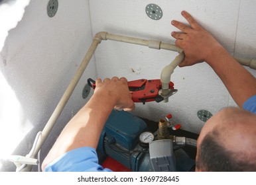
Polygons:
<instances>
[{"instance_id":1,"label":"short dark hair on the man's balding head","mask_svg":"<svg viewBox=\"0 0 256 185\"><path fill-rule=\"evenodd\" d=\"M246 156L246 151L234 153L226 149L218 131L211 131L198 148L196 167L212 172L256 171L256 161ZM239 147L239 145L237 145Z\"/></svg>"}]
</instances>

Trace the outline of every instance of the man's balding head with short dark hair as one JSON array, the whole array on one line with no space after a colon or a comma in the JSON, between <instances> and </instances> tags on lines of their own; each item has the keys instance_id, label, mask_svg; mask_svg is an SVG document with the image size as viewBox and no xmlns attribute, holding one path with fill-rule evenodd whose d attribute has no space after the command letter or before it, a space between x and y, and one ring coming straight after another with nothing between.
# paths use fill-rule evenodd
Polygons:
<instances>
[{"instance_id":1,"label":"man's balding head with short dark hair","mask_svg":"<svg viewBox=\"0 0 256 185\"><path fill-rule=\"evenodd\" d=\"M256 171L256 115L225 108L212 116L198 137L198 171Z\"/></svg>"}]
</instances>

